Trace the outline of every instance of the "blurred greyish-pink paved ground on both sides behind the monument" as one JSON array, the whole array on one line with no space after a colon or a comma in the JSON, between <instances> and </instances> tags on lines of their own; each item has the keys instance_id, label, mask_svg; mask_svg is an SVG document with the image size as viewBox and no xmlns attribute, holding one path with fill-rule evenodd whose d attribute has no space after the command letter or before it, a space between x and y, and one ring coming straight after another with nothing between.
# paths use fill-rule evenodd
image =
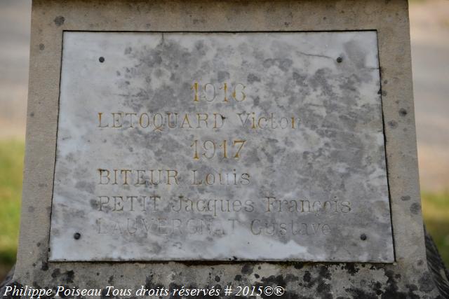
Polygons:
<instances>
[{"instance_id":1,"label":"blurred greyish-pink paved ground on both sides behind the monument","mask_svg":"<svg viewBox=\"0 0 449 299\"><path fill-rule=\"evenodd\" d=\"M0 0L0 138L25 134L29 0ZM449 1L411 4L420 176L423 190L449 189Z\"/></svg>"}]
</instances>

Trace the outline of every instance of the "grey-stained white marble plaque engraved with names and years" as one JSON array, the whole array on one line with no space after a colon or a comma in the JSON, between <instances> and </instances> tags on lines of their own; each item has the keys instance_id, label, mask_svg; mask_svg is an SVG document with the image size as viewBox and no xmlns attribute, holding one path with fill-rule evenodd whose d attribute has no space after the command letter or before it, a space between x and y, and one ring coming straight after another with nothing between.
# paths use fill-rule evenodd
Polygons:
<instances>
[{"instance_id":1,"label":"grey-stained white marble plaque engraved with names and years","mask_svg":"<svg viewBox=\"0 0 449 299\"><path fill-rule=\"evenodd\" d=\"M65 32L50 245L393 262L376 32Z\"/></svg>"}]
</instances>

